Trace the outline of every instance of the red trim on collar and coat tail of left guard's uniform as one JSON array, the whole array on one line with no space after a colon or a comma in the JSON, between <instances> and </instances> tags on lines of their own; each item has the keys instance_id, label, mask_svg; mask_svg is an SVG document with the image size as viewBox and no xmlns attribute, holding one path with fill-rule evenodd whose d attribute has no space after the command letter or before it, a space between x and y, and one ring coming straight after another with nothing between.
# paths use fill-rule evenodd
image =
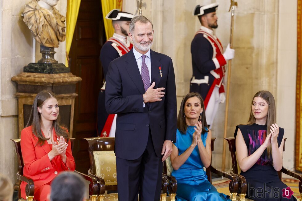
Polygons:
<instances>
[{"instance_id":1,"label":"red trim on collar and coat tail of left guard's uniform","mask_svg":"<svg viewBox=\"0 0 302 201\"><path fill-rule=\"evenodd\" d=\"M133 47L133 45L130 42L129 42L130 43L129 47L127 47L119 39L113 38L113 37L109 38L108 41L112 42L112 46L116 49L116 51L120 54L120 56L128 53ZM113 123L114 115L115 114L108 115L108 118L106 120L106 123L105 123L104 128L101 132L100 137L109 137L109 133L110 133L111 126L112 126L112 123Z\"/></svg>"}]
</instances>

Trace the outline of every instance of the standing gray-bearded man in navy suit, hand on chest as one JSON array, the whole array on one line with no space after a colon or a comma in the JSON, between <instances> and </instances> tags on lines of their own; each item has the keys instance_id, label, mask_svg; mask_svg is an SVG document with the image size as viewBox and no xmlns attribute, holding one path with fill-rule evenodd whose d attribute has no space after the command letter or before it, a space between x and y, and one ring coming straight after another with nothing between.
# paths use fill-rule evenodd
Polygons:
<instances>
[{"instance_id":1,"label":"standing gray-bearded man in navy suit, hand on chest","mask_svg":"<svg viewBox=\"0 0 302 201\"><path fill-rule=\"evenodd\" d=\"M177 106L172 59L150 50L153 24L130 22L134 48L113 60L106 77L105 106L116 119L119 200L160 199L163 161L176 141Z\"/></svg>"}]
</instances>

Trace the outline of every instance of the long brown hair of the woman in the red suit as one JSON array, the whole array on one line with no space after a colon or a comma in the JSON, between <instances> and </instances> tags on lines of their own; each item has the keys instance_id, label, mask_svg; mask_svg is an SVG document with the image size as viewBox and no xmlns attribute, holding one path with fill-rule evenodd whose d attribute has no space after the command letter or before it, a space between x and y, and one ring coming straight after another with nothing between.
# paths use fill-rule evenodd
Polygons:
<instances>
[{"instance_id":1,"label":"long brown hair of the woman in the red suit","mask_svg":"<svg viewBox=\"0 0 302 201\"><path fill-rule=\"evenodd\" d=\"M32 126L31 130L33 134L39 139L36 145L42 146L45 143L45 140L48 140L49 138L45 138L41 131L41 115L38 111L38 107L42 108L44 102L49 98L55 98L57 99L56 95L48 90L43 90L39 92L34 100L34 103L31 107L31 115L29 116L28 122L26 127ZM67 129L63 127L63 125L60 124L60 113L58 115L58 118L53 121L52 123L55 133L58 136L63 136L67 141L69 140L69 135L67 132Z\"/></svg>"}]
</instances>

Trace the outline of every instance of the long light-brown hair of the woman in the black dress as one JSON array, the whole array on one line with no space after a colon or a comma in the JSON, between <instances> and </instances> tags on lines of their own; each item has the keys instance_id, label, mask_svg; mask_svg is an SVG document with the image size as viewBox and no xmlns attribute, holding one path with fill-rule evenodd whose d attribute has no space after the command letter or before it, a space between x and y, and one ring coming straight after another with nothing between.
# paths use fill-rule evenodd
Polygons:
<instances>
[{"instance_id":1,"label":"long light-brown hair of the woman in the black dress","mask_svg":"<svg viewBox=\"0 0 302 201\"><path fill-rule=\"evenodd\" d=\"M270 126L272 124L276 123L275 98L271 94L271 92L269 92L269 91L264 91L264 90L258 91L252 99L251 107L253 105L253 101L254 101L255 97L263 98L263 100L265 100L267 102L267 105L268 105L268 112L267 112L267 118L266 118L266 125L267 125L266 136L267 136L270 133L270 129L271 129ZM255 123L255 117L254 117L253 112L251 110L250 117L248 119L247 125L252 125L254 123ZM268 156L268 158L270 158L270 156L271 156L271 144L267 147L267 156Z\"/></svg>"}]
</instances>

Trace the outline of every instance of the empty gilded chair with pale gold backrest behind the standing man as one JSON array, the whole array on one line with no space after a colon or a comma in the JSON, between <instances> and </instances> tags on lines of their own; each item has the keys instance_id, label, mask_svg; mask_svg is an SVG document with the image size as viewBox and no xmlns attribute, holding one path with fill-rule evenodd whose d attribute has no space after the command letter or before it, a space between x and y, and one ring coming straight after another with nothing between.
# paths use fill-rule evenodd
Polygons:
<instances>
[{"instance_id":1,"label":"empty gilded chair with pale gold backrest behind the standing man","mask_svg":"<svg viewBox=\"0 0 302 201\"><path fill-rule=\"evenodd\" d=\"M84 138L88 142L88 152L90 158L90 168L88 175L96 178L99 185L99 201L118 200L117 193L108 193L108 191L117 191L116 181L116 160L114 153L115 138ZM168 183L165 177L162 177L161 200L165 201L167 195ZM105 192L107 191L107 193Z\"/></svg>"}]
</instances>

